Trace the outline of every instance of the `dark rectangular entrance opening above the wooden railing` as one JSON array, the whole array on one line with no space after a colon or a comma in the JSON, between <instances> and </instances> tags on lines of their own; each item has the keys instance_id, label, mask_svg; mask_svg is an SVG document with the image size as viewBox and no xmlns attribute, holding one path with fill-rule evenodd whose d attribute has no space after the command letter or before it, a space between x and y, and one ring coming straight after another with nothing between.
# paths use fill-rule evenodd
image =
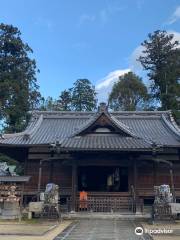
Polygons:
<instances>
[{"instance_id":1,"label":"dark rectangular entrance opening above the wooden railing","mask_svg":"<svg viewBox=\"0 0 180 240\"><path fill-rule=\"evenodd\" d=\"M128 168L119 166L79 167L78 191L128 192Z\"/></svg>"}]
</instances>

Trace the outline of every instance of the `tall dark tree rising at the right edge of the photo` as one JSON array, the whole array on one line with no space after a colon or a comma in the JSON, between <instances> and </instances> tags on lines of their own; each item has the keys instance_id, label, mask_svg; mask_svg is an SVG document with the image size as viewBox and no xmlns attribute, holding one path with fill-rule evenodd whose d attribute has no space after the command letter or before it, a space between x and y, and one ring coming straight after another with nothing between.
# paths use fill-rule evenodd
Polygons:
<instances>
[{"instance_id":1,"label":"tall dark tree rising at the right edge of the photo","mask_svg":"<svg viewBox=\"0 0 180 240\"><path fill-rule=\"evenodd\" d=\"M173 34L155 31L142 43L144 50L139 57L148 71L151 93L159 100L162 109L178 109L180 98L180 49Z\"/></svg>"}]
</instances>

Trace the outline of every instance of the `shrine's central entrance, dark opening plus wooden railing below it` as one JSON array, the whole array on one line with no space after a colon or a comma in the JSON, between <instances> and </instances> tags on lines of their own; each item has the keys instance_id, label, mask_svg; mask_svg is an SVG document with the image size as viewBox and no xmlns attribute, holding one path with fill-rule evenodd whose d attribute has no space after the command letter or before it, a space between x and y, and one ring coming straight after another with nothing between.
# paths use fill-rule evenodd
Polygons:
<instances>
[{"instance_id":1,"label":"shrine's central entrance, dark opening plus wooden railing below it","mask_svg":"<svg viewBox=\"0 0 180 240\"><path fill-rule=\"evenodd\" d=\"M78 167L76 211L120 212L132 209L128 167Z\"/></svg>"}]
</instances>

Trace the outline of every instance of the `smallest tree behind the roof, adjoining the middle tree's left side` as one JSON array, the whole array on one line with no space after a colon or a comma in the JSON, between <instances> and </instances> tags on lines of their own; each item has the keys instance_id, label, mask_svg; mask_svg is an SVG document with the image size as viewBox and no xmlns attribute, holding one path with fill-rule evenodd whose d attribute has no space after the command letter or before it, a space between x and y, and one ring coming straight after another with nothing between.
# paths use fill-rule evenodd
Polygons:
<instances>
[{"instance_id":1,"label":"smallest tree behind the roof, adjoining the middle tree's left side","mask_svg":"<svg viewBox=\"0 0 180 240\"><path fill-rule=\"evenodd\" d=\"M72 106L72 97L71 97L72 89L64 90L61 92L58 99L58 106L61 111L70 111Z\"/></svg>"}]
</instances>

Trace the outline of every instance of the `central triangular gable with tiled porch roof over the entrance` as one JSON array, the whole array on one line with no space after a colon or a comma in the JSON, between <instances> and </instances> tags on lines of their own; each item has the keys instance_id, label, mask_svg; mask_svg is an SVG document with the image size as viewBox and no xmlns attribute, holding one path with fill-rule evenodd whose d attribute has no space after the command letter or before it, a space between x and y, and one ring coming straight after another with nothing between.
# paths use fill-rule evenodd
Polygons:
<instances>
[{"instance_id":1,"label":"central triangular gable with tiled porch roof over the entrance","mask_svg":"<svg viewBox=\"0 0 180 240\"><path fill-rule=\"evenodd\" d=\"M111 127L111 131L96 132L100 127ZM133 151L134 149L140 151L152 148L149 142L137 137L128 126L107 111L94 114L72 136L63 139L60 146L71 151Z\"/></svg>"}]
</instances>

